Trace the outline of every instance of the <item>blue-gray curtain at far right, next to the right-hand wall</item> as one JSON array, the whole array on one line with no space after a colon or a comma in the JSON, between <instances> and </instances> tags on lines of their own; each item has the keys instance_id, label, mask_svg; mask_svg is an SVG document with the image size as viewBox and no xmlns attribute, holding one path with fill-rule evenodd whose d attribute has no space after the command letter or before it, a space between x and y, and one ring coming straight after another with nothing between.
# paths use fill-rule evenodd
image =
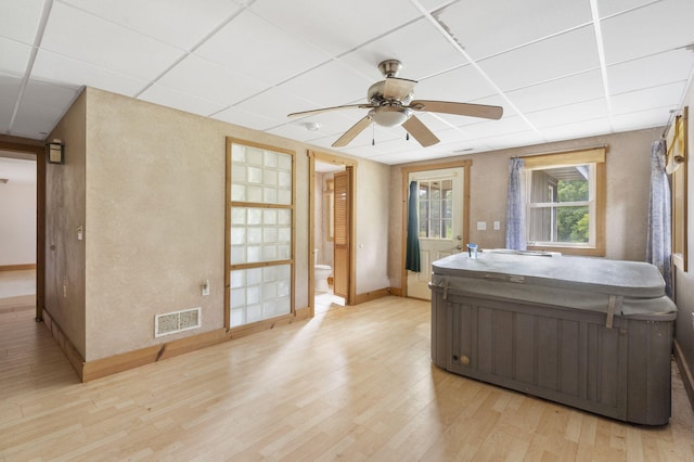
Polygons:
<instances>
[{"instance_id":1,"label":"blue-gray curtain at far right, next to the right-hand wall","mask_svg":"<svg viewBox=\"0 0 694 462\"><path fill-rule=\"evenodd\" d=\"M670 185L665 171L665 140L651 145L651 194L648 196L648 231L646 261L655 265L665 279L665 292L671 296L670 281Z\"/></svg>"}]
</instances>

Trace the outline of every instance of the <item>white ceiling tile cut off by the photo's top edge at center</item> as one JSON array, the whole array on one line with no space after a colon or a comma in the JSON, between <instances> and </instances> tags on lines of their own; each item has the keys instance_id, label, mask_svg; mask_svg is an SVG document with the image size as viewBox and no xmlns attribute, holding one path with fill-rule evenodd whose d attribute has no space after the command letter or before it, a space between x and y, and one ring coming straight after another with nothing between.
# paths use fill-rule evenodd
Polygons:
<instances>
[{"instance_id":1,"label":"white ceiling tile cut off by the photo's top edge at center","mask_svg":"<svg viewBox=\"0 0 694 462\"><path fill-rule=\"evenodd\" d=\"M250 9L331 56L349 52L420 16L410 2L399 0L256 0Z\"/></svg>"}]
</instances>

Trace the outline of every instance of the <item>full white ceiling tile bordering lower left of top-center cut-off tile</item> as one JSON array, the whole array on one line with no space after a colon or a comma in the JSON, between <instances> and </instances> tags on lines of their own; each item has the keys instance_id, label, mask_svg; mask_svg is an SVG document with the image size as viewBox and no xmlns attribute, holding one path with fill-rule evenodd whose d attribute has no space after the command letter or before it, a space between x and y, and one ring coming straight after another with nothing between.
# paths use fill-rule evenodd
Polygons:
<instances>
[{"instance_id":1,"label":"full white ceiling tile bordering lower left of top-center cut-off tile","mask_svg":"<svg viewBox=\"0 0 694 462\"><path fill-rule=\"evenodd\" d=\"M330 59L310 42L297 40L248 10L203 43L196 53L272 85Z\"/></svg>"}]
</instances>

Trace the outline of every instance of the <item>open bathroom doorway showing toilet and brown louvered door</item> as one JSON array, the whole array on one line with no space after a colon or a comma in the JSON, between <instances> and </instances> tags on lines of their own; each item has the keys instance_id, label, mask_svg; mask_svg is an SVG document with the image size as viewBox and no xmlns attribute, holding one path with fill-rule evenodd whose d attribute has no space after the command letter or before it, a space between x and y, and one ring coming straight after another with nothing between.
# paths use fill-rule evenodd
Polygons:
<instances>
[{"instance_id":1,"label":"open bathroom doorway showing toilet and brown louvered door","mask_svg":"<svg viewBox=\"0 0 694 462\"><path fill-rule=\"evenodd\" d=\"M355 299L356 163L317 152L309 152L309 307L314 316Z\"/></svg>"}]
</instances>

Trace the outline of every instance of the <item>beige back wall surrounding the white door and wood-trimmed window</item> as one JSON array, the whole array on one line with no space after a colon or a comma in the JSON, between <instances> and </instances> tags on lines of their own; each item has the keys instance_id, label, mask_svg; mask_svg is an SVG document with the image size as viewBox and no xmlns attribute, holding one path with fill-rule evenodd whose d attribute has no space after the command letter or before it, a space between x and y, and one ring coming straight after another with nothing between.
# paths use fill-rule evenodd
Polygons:
<instances>
[{"instance_id":1,"label":"beige back wall surrounding the white door and wood-trimmed window","mask_svg":"<svg viewBox=\"0 0 694 462\"><path fill-rule=\"evenodd\" d=\"M471 159L470 240L481 248L503 247L505 243L506 185L509 159L554 151L607 144L607 217L606 257L644 260L648 184L651 181L651 143L663 129L586 138L513 150L471 154L429 163ZM390 168L390 226L388 275L390 285L401 287L402 239L402 167L427 163L403 164ZM487 231L477 231L476 222L486 221ZM494 231L493 221L501 222Z\"/></svg>"}]
</instances>

